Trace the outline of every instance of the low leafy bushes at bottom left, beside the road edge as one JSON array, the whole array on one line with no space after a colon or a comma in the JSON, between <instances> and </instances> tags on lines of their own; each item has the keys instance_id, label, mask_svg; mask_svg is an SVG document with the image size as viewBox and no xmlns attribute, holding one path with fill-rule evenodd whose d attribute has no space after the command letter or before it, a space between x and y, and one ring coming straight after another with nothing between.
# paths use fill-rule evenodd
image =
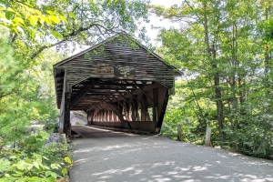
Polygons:
<instances>
[{"instance_id":1,"label":"low leafy bushes at bottom left, beside the road edge","mask_svg":"<svg viewBox=\"0 0 273 182\"><path fill-rule=\"evenodd\" d=\"M39 135L35 137L39 138ZM37 143L34 140L27 142ZM66 177L68 168L72 166L70 147L66 143L45 145L44 142L43 147L32 148L36 151L28 150L31 151L28 155L20 149L2 151L0 181L56 181L57 177Z\"/></svg>"}]
</instances>

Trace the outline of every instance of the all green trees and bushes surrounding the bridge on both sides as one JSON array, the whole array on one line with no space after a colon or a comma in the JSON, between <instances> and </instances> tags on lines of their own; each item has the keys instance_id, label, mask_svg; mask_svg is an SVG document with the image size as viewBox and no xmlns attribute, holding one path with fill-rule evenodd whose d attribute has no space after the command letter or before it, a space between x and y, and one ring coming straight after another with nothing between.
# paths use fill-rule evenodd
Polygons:
<instances>
[{"instance_id":1,"label":"all green trees and bushes surrounding the bridge on both sides","mask_svg":"<svg viewBox=\"0 0 273 182\"><path fill-rule=\"evenodd\" d=\"M52 65L122 31L148 42L149 13L180 25L157 36L156 52L184 72L162 133L181 124L184 141L203 144L211 126L212 146L273 159L272 12L269 0L0 0L0 181L67 176L70 146L46 144L58 122Z\"/></svg>"}]
</instances>

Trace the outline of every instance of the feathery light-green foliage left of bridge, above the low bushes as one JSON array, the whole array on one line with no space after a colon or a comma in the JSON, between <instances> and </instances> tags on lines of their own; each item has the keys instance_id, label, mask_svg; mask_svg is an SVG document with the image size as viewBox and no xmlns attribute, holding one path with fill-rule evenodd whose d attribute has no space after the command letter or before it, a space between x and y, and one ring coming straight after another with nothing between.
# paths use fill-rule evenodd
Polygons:
<instances>
[{"instance_id":1,"label":"feathery light-green foliage left of bridge, above the low bushes","mask_svg":"<svg viewBox=\"0 0 273 182\"><path fill-rule=\"evenodd\" d=\"M5 33L5 29L3 31ZM3 34L5 35L5 34ZM55 93L51 66L57 56L31 60L15 52L6 36L1 36L0 51L0 148L17 145L27 135L27 126L56 120ZM43 71L43 72L42 72ZM47 87L47 89L45 89Z\"/></svg>"}]
</instances>

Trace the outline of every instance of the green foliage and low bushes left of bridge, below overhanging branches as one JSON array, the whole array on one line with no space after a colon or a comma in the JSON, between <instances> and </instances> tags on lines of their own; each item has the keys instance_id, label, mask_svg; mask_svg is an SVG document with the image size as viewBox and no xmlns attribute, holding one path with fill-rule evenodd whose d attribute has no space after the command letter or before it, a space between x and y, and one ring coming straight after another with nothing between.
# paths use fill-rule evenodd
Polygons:
<instances>
[{"instance_id":1,"label":"green foliage and low bushes left of bridge, below overhanging branches","mask_svg":"<svg viewBox=\"0 0 273 182\"><path fill-rule=\"evenodd\" d=\"M0 31L0 181L55 181L71 166L69 147L46 146L48 133L33 124L56 124L51 67L62 56L47 51L34 63Z\"/></svg>"}]
</instances>

